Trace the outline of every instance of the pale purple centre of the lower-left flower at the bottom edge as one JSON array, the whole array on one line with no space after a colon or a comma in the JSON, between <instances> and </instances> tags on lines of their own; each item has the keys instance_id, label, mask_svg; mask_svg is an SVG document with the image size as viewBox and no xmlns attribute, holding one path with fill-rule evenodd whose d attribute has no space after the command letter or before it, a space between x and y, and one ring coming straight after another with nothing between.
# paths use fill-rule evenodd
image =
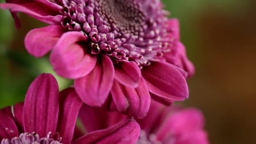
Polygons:
<instances>
[{"instance_id":1,"label":"pale purple centre of the lower-left flower at the bottom edge","mask_svg":"<svg viewBox=\"0 0 256 144\"><path fill-rule=\"evenodd\" d=\"M40 138L36 132L21 133L19 137L3 139L1 144L62 144L59 133L49 132L46 137Z\"/></svg>"}]
</instances>

